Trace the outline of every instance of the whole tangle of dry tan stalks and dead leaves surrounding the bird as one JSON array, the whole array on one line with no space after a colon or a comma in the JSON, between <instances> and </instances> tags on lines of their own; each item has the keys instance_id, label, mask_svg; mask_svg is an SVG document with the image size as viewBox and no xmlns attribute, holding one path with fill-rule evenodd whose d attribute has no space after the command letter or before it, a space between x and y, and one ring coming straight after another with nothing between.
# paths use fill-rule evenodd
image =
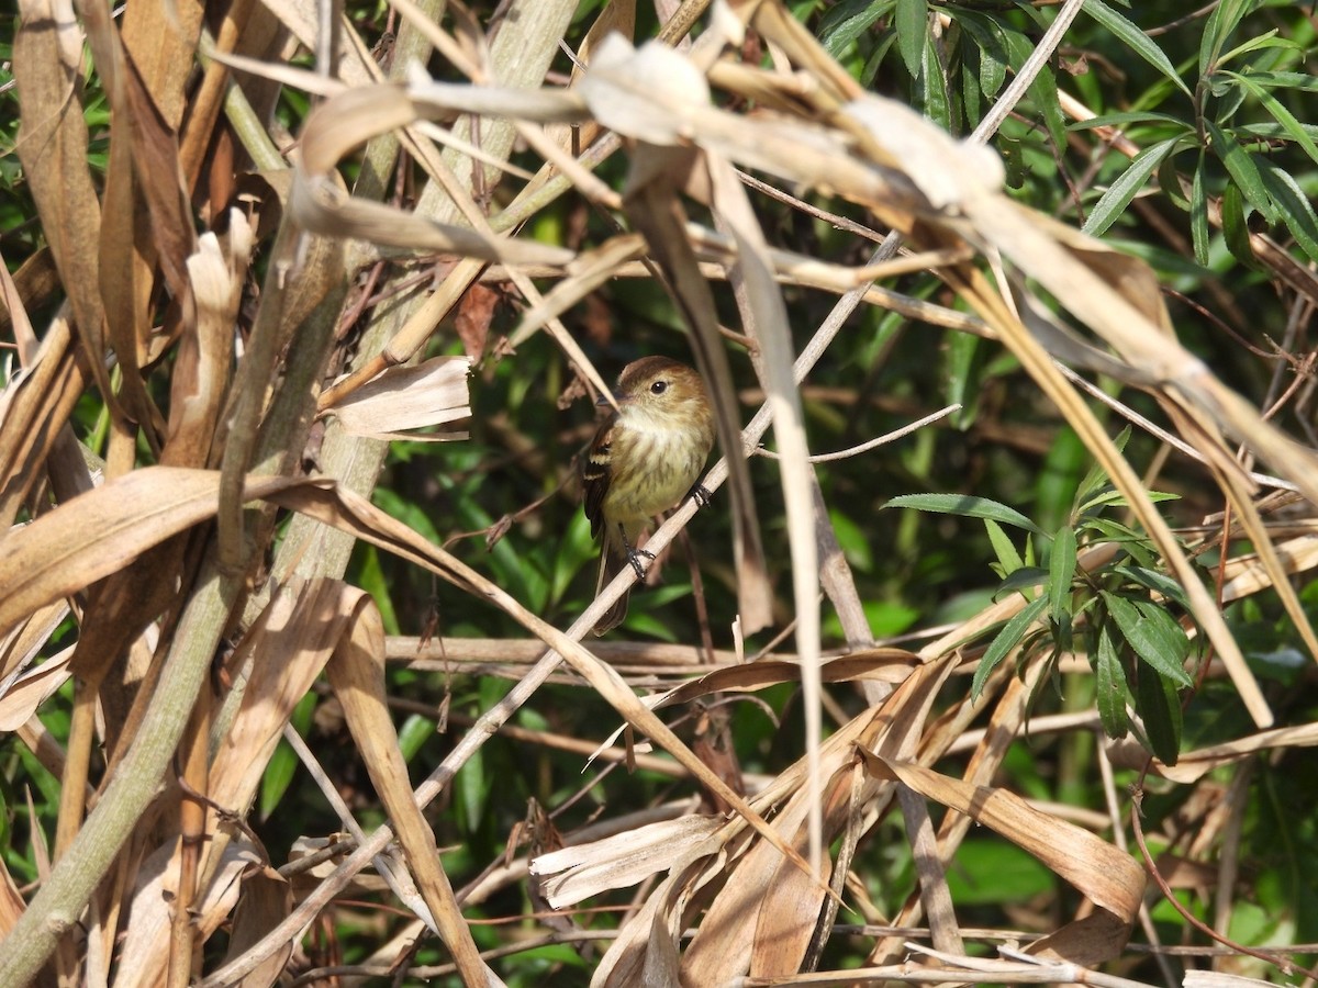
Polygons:
<instances>
[{"instance_id":1,"label":"whole tangle of dry tan stalks and dead leaves surrounding the bird","mask_svg":"<svg viewBox=\"0 0 1318 988\"><path fill-rule=\"evenodd\" d=\"M415 919L390 926L374 956L322 971L316 983L456 971L467 984L500 984L502 956L585 943L590 931L563 921L572 906L638 884L643 900L608 943L583 954L592 984L1131 984L1097 971L1126 956L1132 925L1153 935L1145 862L1128 844L1137 813L1112 781L1107 750L1095 747L1095 759L1110 801L1087 815L1068 818L999 784L1040 684L1058 664L1087 669L1077 657L1086 615L1072 615L1060 597L1014 593L912 651L871 640L865 601L820 508L797 389L859 306L907 314L931 332L975 333L1015 356L1169 577L1157 599L1174 603L1206 643L1193 672L1227 677L1255 726L1180 757L1155 738L1162 756L1123 750L1132 764L1193 788L1256 752L1318 740L1313 723L1271 730L1273 711L1223 618L1223 603L1271 589L1310 659L1318 653L1292 582L1318 561L1311 523L1289 518L1275 537L1272 502L1261 499L1271 486L1318 501L1318 457L1178 341L1147 265L1004 194L999 157L985 148L1000 116L966 141L950 138L865 91L776 3L705 11L688 1L663 29L668 43L635 45L634 11L609 4L592 14L569 86L544 80L575 0L514 4L518 16L493 37L461 8L440 20L442 4L393 0L387 70L349 22L318 24L311 4L236 0L210 30L195 3L128 4L117 21L95 4L79 5L76 17L58 3L21 7L17 153L45 249L30 270L4 275L21 370L0 404L0 728L59 779L61 794L55 831L30 831L40 888L20 893L8 872L0 885L0 984L290 983L307 930L336 901L361 896ZM1062 7L1073 16L1078 5ZM699 38L683 42L701 16ZM743 58L747 38L770 57ZM112 115L95 180L79 103L84 42ZM1056 43L1045 38L1040 50ZM418 69L431 49L465 82ZM315 71L283 57L298 50L315 54ZM1029 79L1019 82L1003 94L1003 113ZM316 97L295 140L269 125L279 86ZM403 151L423 180L414 196L395 195ZM625 167L609 184L600 166L613 159ZM859 207L886 236L862 266L772 246L742 170L778 190ZM356 175L351 188L344 174ZM630 232L571 249L530 236L561 196L592 203ZM370 288L416 283L415 269L387 263L409 254L443 258L434 283L366 304ZM58 292L36 278L42 263L58 273ZM871 285L908 270L936 271L942 302ZM1309 269L1294 265L1284 277L1313 303ZM718 491L731 474L730 497L718 497L735 511L741 632L775 620L775 630L789 628L760 661L676 645L583 645L622 582L559 627L370 501L385 440L469 415L468 358L427 356L426 346L477 286L507 286L525 303L507 353L544 333L587 387L606 390L560 316L616 278L655 279L671 292L718 397L721 448L737 456L705 486ZM710 281L731 286L735 344ZM837 296L804 348L793 343L784 286ZM57 298L49 323L33 327L28 312ZM480 336L488 325L476 321ZM349 324L364 325L351 346L341 332ZM750 352L762 389L745 428L733 346ZM1099 420L1077 369L1152 395L1174 429L1168 441L1180 441L1201 464L1201 482L1219 491L1224 515L1195 536L1197 545L1230 549L1217 593L1191 561L1194 545L1173 532ZM88 394L103 403L99 460L71 425ZM308 453L312 431L319 445ZM766 436L786 506L787 622L771 607L741 456ZM1228 443L1276 477L1260 485ZM695 511L675 511L650 548L662 551ZM390 639L377 602L344 581L357 544L492 603L526 635L484 645L447 639L438 651ZM1073 577L1107 572L1118 551L1098 537L1073 543L1064 590ZM822 648L821 598L840 618L845 648ZM1074 617L1074 649L1025 636L1048 627L1043 605L1028 611L1036 602L1065 613L1068 627ZM999 656L1007 661L981 665L990 636L1014 619L1021 636ZM449 723L460 736L415 786L391 713L406 697L386 690L390 659L445 672L471 663L511 682L464 731ZM610 808L558 848L551 825L529 826L530 851L513 842L507 860L467 860L461 876L449 875L426 808L490 736L505 728L515 738L517 711L551 678L564 681L565 669L567 681L616 711L618 731L601 759L693 779L705 805ZM326 777L341 833L304 834L295 856L274 860L249 814L279 739L299 744L290 721L322 673L389 826L358 823ZM666 718L677 705L784 682L801 686L807 742L799 760L751 785L720 773ZM866 701L830 731L824 684L857 684ZM642 698L638 685L670 692ZM1120 710L1102 714L1124 723L1126 694L1116 696ZM66 736L42 719L54 706L67 714ZM1094 732L1097 717L1077 714L1057 730ZM634 752L641 738L667 757ZM301 754L315 765L306 744ZM952 754L960 775L948 772ZM931 806L954 811L931 815ZM898 811L917 881L896 914L882 916L853 862ZM1024 848L1078 893L1044 935L992 960L967 956L978 952L971 941L996 938L963 929L948 888L973 825ZM1178 835L1165 837L1180 846ZM1230 888L1227 860L1218 867L1217 881ZM519 883L543 906L521 927L523 942L478 945L464 906ZM452 967L409 975L411 941L426 931ZM863 939L863 970L799 974L816 971L846 937Z\"/></svg>"}]
</instances>

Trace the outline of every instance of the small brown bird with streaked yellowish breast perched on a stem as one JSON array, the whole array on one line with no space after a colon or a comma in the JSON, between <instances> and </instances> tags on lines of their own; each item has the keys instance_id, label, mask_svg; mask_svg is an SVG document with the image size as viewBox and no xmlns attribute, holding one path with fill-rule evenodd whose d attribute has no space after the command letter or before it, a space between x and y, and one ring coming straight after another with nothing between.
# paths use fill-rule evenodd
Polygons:
<instances>
[{"instance_id":1,"label":"small brown bird with streaked yellowish breast perched on a stem","mask_svg":"<svg viewBox=\"0 0 1318 988\"><path fill-rule=\"evenodd\" d=\"M622 369L618 411L594 433L581 470L585 516L601 539L596 594L626 565L645 576L637 549L646 523L695 491L714 445L714 414L700 374L667 357L642 357ZM606 402L601 400L601 404ZM602 635L627 614L623 594L594 626Z\"/></svg>"}]
</instances>

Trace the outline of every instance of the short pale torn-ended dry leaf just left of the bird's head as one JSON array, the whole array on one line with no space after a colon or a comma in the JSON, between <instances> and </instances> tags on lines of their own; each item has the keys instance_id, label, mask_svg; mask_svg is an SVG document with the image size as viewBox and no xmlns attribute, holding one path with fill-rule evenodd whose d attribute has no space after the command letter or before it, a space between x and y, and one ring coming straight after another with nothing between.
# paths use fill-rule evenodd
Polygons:
<instances>
[{"instance_id":1,"label":"short pale torn-ended dry leaf just left of the bird's head","mask_svg":"<svg viewBox=\"0 0 1318 988\"><path fill-rule=\"evenodd\" d=\"M351 435L376 437L467 419L472 414L467 387L471 366L468 357L435 357L415 368L390 368L328 411Z\"/></svg>"}]
</instances>

